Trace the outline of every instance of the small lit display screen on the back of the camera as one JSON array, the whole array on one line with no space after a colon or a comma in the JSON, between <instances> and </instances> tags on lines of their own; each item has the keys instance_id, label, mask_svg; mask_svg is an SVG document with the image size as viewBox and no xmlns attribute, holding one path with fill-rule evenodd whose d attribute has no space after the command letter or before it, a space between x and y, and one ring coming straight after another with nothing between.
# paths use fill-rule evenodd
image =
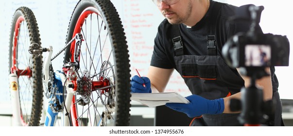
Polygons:
<instances>
[{"instance_id":1,"label":"small lit display screen on the back of the camera","mask_svg":"<svg viewBox=\"0 0 293 136\"><path fill-rule=\"evenodd\" d=\"M246 45L245 66L264 67L270 66L271 47L269 45Z\"/></svg>"}]
</instances>

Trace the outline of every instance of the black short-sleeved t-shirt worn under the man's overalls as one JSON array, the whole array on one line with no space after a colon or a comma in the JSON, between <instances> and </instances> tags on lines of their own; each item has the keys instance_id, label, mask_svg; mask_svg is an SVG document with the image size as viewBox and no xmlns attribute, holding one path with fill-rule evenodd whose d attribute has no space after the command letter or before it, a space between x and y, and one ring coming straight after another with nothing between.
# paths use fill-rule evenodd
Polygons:
<instances>
[{"instance_id":1,"label":"black short-sleeved t-shirt worn under the man's overalls","mask_svg":"<svg viewBox=\"0 0 293 136\"><path fill-rule=\"evenodd\" d=\"M229 18L235 15L235 10L237 6L224 3L219 11L217 23L215 26L211 20L212 10L214 8L214 3L216 1L210 2L210 7L207 14L191 28L186 27L184 24L179 24L180 36L182 38L184 46L185 55L208 55L207 54L207 35L215 30L216 40L217 40L217 51L219 55L222 55L222 47L225 42L234 34L238 32L247 32L249 30L249 23L229 23ZM260 27L259 27L260 28ZM260 30L261 31L261 30ZM151 66L158 68L176 68L174 61L174 47L172 43L172 38L174 38L174 29L172 24L164 19L158 26L158 33L155 37L155 46L151 60ZM238 74L235 68L231 68L235 74ZM275 68L271 68L273 91L277 90L278 82L274 74Z\"/></svg>"}]
</instances>

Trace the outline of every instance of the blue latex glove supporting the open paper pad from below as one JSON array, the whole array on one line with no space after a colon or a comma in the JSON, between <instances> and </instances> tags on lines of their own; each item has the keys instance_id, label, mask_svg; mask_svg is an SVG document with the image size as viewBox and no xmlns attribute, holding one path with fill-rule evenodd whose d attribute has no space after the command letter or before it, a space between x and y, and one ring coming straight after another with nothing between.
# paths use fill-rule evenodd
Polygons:
<instances>
[{"instance_id":1,"label":"blue latex glove supporting the open paper pad from below","mask_svg":"<svg viewBox=\"0 0 293 136\"><path fill-rule=\"evenodd\" d=\"M198 95L190 95L186 97L189 100L185 103L166 103L166 106L187 114L188 117L198 117L203 114L220 114L224 111L224 99L207 100Z\"/></svg>"}]
</instances>

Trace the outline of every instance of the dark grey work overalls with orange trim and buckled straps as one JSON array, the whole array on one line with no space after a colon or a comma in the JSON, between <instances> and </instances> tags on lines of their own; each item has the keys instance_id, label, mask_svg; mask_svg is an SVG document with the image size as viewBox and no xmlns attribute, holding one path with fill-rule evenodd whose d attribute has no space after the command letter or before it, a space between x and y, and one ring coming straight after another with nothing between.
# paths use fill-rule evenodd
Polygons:
<instances>
[{"instance_id":1,"label":"dark grey work overalls with orange trim and buckled straps","mask_svg":"<svg viewBox=\"0 0 293 136\"><path fill-rule=\"evenodd\" d=\"M176 70L183 77L192 94L206 99L218 99L240 91L244 81L239 74L226 65L218 51L216 21L222 3L215 2L210 16L210 35L207 35L208 55L185 55L181 39L173 38ZM178 26L179 28L179 26ZM177 30L179 31L179 29ZM176 31L175 31L176 32ZM179 33L179 32L176 32ZM183 37L184 38L184 37ZM180 46L181 44L181 46ZM191 126L241 126L239 114L203 115L196 117Z\"/></svg>"}]
</instances>

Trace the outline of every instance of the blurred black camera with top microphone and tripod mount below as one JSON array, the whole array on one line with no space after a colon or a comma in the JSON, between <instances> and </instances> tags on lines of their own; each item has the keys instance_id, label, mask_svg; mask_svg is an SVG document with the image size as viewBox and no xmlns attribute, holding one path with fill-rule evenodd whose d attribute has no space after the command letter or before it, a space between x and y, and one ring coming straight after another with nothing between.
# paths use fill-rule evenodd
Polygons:
<instances>
[{"instance_id":1,"label":"blurred black camera with top microphone and tripod mount below","mask_svg":"<svg viewBox=\"0 0 293 136\"><path fill-rule=\"evenodd\" d=\"M260 15L263 6L253 4L240 6L230 23L249 23L247 32L232 36L224 44L222 55L228 66L240 68L241 74L251 77L250 85L241 88L241 100L232 99L230 110L239 111L239 121L245 126L274 122L275 102L263 101L263 91L256 80L270 74L266 67L289 66L290 44L286 36L263 34L260 26ZM243 27L245 27L243 26ZM268 123L269 125L274 125Z\"/></svg>"}]
</instances>

